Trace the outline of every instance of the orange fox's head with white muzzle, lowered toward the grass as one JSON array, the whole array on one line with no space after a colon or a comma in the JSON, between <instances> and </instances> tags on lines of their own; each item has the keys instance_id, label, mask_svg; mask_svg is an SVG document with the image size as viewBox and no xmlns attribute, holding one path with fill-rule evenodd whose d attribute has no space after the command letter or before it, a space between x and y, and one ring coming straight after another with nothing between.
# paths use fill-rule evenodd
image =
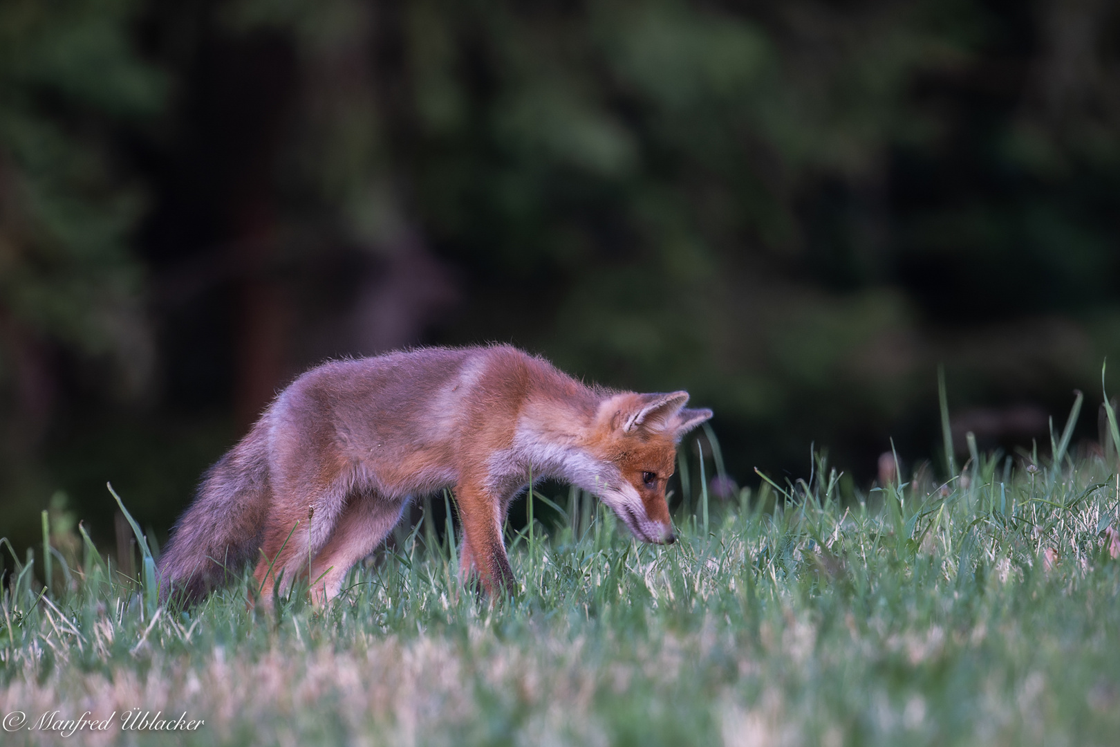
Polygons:
<instances>
[{"instance_id":1,"label":"orange fox's head with white muzzle, lowered toward the grass","mask_svg":"<svg viewBox=\"0 0 1120 747\"><path fill-rule=\"evenodd\" d=\"M590 431L588 450L614 469L597 476L600 484L581 487L603 498L646 542L676 540L665 484L681 437L711 418L711 410L685 408L688 401L688 392L615 394L601 402Z\"/></svg>"}]
</instances>

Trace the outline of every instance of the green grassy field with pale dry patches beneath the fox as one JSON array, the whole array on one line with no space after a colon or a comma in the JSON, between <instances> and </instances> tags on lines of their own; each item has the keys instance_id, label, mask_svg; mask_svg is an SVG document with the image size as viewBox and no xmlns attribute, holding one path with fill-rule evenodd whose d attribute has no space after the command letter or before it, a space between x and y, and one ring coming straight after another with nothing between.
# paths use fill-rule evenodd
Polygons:
<instances>
[{"instance_id":1,"label":"green grassy field with pale dry patches beneath the fox","mask_svg":"<svg viewBox=\"0 0 1120 747\"><path fill-rule=\"evenodd\" d=\"M818 461L693 496L664 548L588 496L538 496L547 521L511 538L522 589L495 606L456 580L454 532L422 524L325 609L251 609L245 580L159 609L90 545L40 595L25 558L0 619L2 743L1117 744L1105 458L978 455L847 504ZM109 728L64 723L83 717Z\"/></svg>"}]
</instances>

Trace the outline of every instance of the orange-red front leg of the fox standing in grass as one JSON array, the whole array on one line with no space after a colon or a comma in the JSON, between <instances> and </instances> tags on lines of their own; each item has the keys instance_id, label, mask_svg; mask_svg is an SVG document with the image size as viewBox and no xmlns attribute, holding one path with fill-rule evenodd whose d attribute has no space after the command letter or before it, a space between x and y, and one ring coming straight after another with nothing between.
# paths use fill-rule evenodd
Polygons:
<instances>
[{"instance_id":1,"label":"orange-red front leg of the fox standing in grass","mask_svg":"<svg viewBox=\"0 0 1120 747\"><path fill-rule=\"evenodd\" d=\"M455 497L463 523L459 570L464 579L474 567L487 595L496 598L508 594L515 588L515 579L502 541L502 499L469 482L455 488Z\"/></svg>"}]
</instances>

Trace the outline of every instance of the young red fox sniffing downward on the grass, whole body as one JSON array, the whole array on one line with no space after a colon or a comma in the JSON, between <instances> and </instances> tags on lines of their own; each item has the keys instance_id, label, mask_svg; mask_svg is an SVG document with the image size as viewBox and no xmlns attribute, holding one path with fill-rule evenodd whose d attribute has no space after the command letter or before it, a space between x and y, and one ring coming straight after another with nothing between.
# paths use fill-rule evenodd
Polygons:
<instances>
[{"instance_id":1,"label":"young red fox sniffing downward on the grass, whole body","mask_svg":"<svg viewBox=\"0 0 1120 747\"><path fill-rule=\"evenodd\" d=\"M265 604L278 578L298 577L326 601L413 496L448 487L464 579L498 595L514 582L502 527L530 475L599 496L641 540L673 542L676 443L712 414L688 399L585 386L508 345L325 363L203 476L159 559L161 597L195 601L258 558Z\"/></svg>"}]
</instances>

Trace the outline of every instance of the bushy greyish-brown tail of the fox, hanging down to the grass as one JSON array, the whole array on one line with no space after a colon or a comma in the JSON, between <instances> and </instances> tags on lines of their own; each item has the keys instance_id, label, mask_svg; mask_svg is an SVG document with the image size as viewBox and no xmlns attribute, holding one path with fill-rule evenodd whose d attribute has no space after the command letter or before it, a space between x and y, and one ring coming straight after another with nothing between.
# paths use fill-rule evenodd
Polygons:
<instances>
[{"instance_id":1,"label":"bushy greyish-brown tail of the fox, hanging down to the grass","mask_svg":"<svg viewBox=\"0 0 1120 747\"><path fill-rule=\"evenodd\" d=\"M263 419L209 468L156 570L161 600L192 604L241 573L261 547L271 499Z\"/></svg>"}]
</instances>

